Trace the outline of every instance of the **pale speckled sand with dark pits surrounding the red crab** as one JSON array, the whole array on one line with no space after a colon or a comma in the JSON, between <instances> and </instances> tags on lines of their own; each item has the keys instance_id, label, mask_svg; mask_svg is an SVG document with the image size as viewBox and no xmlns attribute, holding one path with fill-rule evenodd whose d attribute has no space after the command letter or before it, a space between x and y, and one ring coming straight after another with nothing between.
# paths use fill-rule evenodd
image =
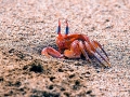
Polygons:
<instances>
[{"instance_id":1,"label":"pale speckled sand with dark pits surrounding the red crab","mask_svg":"<svg viewBox=\"0 0 130 97\"><path fill-rule=\"evenodd\" d=\"M58 18L107 52L98 61L41 56ZM130 0L0 0L0 97L130 97Z\"/></svg>"}]
</instances>

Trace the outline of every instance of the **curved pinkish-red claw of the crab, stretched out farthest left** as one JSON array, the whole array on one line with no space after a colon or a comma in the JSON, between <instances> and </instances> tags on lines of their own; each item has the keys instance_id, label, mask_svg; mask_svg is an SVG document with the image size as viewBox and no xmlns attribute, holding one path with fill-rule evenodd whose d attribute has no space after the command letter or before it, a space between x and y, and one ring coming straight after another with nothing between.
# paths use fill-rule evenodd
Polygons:
<instances>
[{"instance_id":1,"label":"curved pinkish-red claw of the crab, stretched out farthest left","mask_svg":"<svg viewBox=\"0 0 130 97\"><path fill-rule=\"evenodd\" d=\"M64 55L62 55L60 52L57 52L56 50L54 50L53 47L44 47L42 51L41 51L41 55L46 55L48 57L50 56L53 56L53 57L56 57L56 58L63 58Z\"/></svg>"}]
</instances>

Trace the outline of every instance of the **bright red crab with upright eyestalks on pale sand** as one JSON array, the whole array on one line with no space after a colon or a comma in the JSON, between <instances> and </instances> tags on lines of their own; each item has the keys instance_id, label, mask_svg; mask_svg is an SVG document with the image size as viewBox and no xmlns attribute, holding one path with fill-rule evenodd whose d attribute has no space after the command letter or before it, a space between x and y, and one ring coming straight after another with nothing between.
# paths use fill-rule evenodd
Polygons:
<instances>
[{"instance_id":1,"label":"bright red crab with upright eyestalks on pale sand","mask_svg":"<svg viewBox=\"0 0 130 97\"><path fill-rule=\"evenodd\" d=\"M80 58L81 55L91 63L90 56L94 56L104 67L110 67L108 56L98 41L90 40L86 34L68 34L68 23L66 19L65 34L61 33L61 22L58 20L56 45L58 51L53 47L44 47L41 55L57 58ZM101 52L100 52L101 51Z\"/></svg>"}]
</instances>

